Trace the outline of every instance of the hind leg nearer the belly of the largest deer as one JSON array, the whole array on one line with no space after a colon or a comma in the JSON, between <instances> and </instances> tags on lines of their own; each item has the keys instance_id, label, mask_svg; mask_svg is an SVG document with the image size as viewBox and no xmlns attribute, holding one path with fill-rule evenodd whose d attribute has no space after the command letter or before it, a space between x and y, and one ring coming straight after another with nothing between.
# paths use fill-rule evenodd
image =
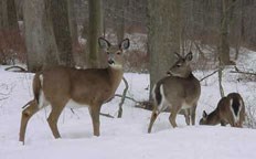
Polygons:
<instances>
[{"instance_id":1,"label":"hind leg nearer the belly of the largest deer","mask_svg":"<svg viewBox=\"0 0 256 159\"><path fill-rule=\"evenodd\" d=\"M57 120L58 120L58 117L60 117L63 108L64 108L64 106L52 105L52 112L47 118L47 123L49 123L49 126L52 130L54 138L61 138L61 135L60 135L58 129L57 129Z\"/></svg>"}]
</instances>

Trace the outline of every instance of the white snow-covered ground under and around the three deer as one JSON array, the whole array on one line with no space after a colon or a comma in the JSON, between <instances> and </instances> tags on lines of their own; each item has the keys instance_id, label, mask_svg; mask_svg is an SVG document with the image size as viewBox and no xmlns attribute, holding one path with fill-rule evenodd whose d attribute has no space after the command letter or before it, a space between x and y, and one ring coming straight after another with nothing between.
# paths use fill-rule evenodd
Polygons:
<instances>
[{"instance_id":1,"label":"white snow-covered ground under and around the three deer","mask_svg":"<svg viewBox=\"0 0 256 159\"><path fill-rule=\"evenodd\" d=\"M249 62L238 64L255 68L256 55L249 53ZM207 72L210 73L210 72ZM205 73L205 74L207 74ZM198 78L205 74L195 72ZM148 74L126 73L129 82L128 96L146 100L149 91ZM238 75L224 73L225 93L239 92L245 104L255 104L255 83L237 82ZM87 108L64 109L58 120L62 138L54 139L46 123L49 109L43 109L30 120L25 145L18 141L22 106L32 99L33 74L11 73L0 67L0 159L255 159L256 130L221 126L199 126L203 109L211 112L218 99L217 76L202 82L202 94L196 109L196 125L186 126L183 116L178 116L178 128L172 128L168 117L161 114L147 134L151 113L135 108L126 100L122 118L100 116L100 137L93 136L92 120ZM122 92L124 84L118 88ZM102 112L117 116L120 98L103 106Z\"/></svg>"}]
</instances>

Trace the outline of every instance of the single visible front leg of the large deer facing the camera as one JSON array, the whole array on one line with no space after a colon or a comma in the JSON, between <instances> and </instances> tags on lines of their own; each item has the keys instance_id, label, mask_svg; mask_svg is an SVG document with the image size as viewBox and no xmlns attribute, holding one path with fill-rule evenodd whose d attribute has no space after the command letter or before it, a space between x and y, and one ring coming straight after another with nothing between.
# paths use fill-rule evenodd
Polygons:
<instances>
[{"instance_id":1,"label":"single visible front leg of the large deer facing the camera","mask_svg":"<svg viewBox=\"0 0 256 159\"><path fill-rule=\"evenodd\" d=\"M100 112L102 105L95 105L89 107L89 114L93 120L93 128L94 128L94 136L99 136L99 112Z\"/></svg>"}]
</instances>

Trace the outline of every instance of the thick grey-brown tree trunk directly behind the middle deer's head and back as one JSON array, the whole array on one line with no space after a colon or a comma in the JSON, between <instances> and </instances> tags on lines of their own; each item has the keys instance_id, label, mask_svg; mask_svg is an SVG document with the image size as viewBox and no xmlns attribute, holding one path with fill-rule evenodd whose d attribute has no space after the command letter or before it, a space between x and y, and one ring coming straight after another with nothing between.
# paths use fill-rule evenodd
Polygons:
<instances>
[{"instance_id":1,"label":"thick grey-brown tree trunk directly behind the middle deer's head and back","mask_svg":"<svg viewBox=\"0 0 256 159\"><path fill-rule=\"evenodd\" d=\"M148 52L150 54L150 91L166 76L174 62L173 52L180 52L179 0L148 1Z\"/></svg>"}]
</instances>

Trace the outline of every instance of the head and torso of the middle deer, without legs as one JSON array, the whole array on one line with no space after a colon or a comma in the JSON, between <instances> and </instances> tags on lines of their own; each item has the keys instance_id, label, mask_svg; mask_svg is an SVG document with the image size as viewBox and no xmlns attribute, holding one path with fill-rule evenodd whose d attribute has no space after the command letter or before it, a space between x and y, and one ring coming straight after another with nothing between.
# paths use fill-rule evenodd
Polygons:
<instances>
[{"instance_id":1,"label":"head and torso of the middle deer, without legs","mask_svg":"<svg viewBox=\"0 0 256 159\"><path fill-rule=\"evenodd\" d=\"M153 89L153 96L159 106L161 102L166 107L180 106L180 108L190 108L196 105L201 93L200 82L194 77L190 67L192 53L185 57L177 54L178 61L169 70L169 76L160 80ZM160 108L164 109L164 108Z\"/></svg>"}]
</instances>

